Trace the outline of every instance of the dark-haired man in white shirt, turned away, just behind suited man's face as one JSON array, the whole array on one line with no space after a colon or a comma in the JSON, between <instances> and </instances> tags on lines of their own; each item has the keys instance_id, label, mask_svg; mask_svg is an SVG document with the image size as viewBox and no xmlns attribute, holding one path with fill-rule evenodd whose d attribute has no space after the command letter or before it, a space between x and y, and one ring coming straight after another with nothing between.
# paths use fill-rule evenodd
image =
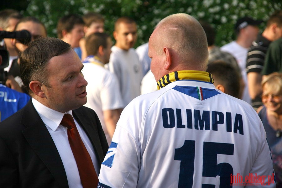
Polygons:
<instances>
[{"instance_id":1,"label":"dark-haired man in white shirt, turned away, just behind suited man's face","mask_svg":"<svg viewBox=\"0 0 282 188\"><path fill-rule=\"evenodd\" d=\"M82 62L82 73L88 85L87 102L84 106L97 113L110 145L124 107L116 76L104 68L104 64L109 62L112 40L106 33L90 34L86 38L85 47L88 56Z\"/></svg>"}]
</instances>

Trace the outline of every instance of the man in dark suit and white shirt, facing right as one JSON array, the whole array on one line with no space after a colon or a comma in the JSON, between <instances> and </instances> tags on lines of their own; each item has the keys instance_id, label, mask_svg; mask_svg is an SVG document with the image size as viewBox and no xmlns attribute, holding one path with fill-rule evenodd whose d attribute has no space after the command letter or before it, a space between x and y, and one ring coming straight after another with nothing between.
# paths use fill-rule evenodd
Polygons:
<instances>
[{"instance_id":1,"label":"man in dark suit and white shirt, facing right","mask_svg":"<svg viewBox=\"0 0 282 188\"><path fill-rule=\"evenodd\" d=\"M22 80L32 98L0 123L0 187L86 187L69 143L70 128L61 122L65 114L74 118L99 174L108 145L97 114L83 107L82 68L70 45L56 38L37 39L20 53Z\"/></svg>"}]
</instances>

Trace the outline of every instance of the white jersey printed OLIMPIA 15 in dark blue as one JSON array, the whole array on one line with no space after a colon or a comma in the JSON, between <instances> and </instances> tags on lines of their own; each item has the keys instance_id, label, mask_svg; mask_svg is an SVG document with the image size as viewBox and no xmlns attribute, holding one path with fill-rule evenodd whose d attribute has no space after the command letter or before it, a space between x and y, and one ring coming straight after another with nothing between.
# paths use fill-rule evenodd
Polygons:
<instances>
[{"instance_id":1,"label":"white jersey printed OLIMPIA 15 in dark blue","mask_svg":"<svg viewBox=\"0 0 282 188\"><path fill-rule=\"evenodd\" d=\"M226 188L234 183L237 188L243 182L245 187L262 187L246 180L253 176L265 177L263 187L275 187L258 114L206 78L199 79L208 73L184 72L185 80L141 95L125 107L98 187Z\"/></svg>"}]
</instances>

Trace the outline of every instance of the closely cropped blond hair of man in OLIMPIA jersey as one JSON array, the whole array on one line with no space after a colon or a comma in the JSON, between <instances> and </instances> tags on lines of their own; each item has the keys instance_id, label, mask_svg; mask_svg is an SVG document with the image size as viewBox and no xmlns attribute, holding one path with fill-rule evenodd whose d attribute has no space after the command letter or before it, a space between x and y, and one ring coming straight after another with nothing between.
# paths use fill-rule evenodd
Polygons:
<instances>
[{"instance_id":1,"label":"closely cropped blond hair of man in OLIMPIA jersey","mask_svg":"<svg viewBox=\"0 0 282 188\"><path fill-rule=\"evenodd\" d=\"M158 41L154 42L155 45L163 44L175 50L187 64L192 66L198 64L206 69L208 60L206 33L195 18L185 13L172 14L162 19L156 28L159 34L155 38Z\"/></svg>"}]
</instances>

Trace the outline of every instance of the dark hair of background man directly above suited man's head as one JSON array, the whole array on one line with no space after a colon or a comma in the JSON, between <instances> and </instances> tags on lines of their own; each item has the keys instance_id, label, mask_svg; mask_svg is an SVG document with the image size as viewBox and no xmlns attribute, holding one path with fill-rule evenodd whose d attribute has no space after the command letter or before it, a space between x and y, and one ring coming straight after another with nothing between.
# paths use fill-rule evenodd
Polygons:
<instances>
[{"instance_id":1,"label":"dark hair of background man directly above suited man's head","mask_svg":"<svg viewBox=\"0 0 282 188\"><path fill-rule=\"evenodd\" d=\"M62 31L65 29L68 33L74 28L75 25L84 25L82 17L78 14L66 15L58 21L57 36L59 39L63 38Z\"/></svg>"}]
</instances>

